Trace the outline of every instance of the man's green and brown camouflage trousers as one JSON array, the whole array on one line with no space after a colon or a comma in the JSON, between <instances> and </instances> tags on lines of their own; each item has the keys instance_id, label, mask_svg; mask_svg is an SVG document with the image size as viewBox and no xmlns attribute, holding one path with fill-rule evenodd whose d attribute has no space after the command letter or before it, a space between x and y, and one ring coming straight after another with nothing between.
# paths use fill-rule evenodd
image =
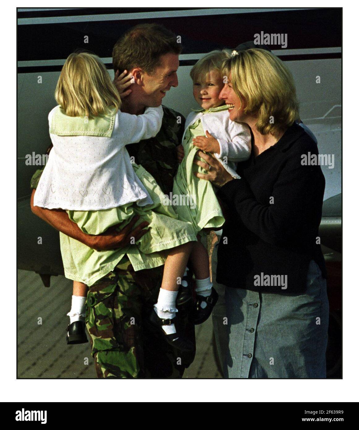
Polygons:
<instances>
[{"instance_id":1,"label":"man's green and brown camouflage trousers","mask_svg":"<svg viewBox=\"0 0 359 430\"><path fill-rule=\"evenodd\" d=\"M163 266L134 272L125 258L87 294L86 327L97 377L181 378L195 354L179 356L146 324L157 301ZM176 329L194 343L191 301L178 306L176 319Z\"/></svg>"}]
</instances>

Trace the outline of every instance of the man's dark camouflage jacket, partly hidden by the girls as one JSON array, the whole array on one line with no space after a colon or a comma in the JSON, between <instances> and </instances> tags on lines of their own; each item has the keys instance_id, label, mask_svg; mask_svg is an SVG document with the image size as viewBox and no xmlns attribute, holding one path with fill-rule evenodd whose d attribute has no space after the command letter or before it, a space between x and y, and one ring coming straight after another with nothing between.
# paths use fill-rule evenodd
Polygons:
<instances>
[{"instance_id":1,"label":"man's dark camouflage jacket, partly hidden by the girls","mask_svg":"<svg viewBox=\"0 0 359 430\"><path fill-rule=\"evenodd\" d=\"M135 163L141 164L160 185L165 194L173 188L173 178L178 169L176 146L182 141L185 118L178 112L163 107L160 132L154 138L141 140L126 146ZM37 170L31 178L31 188L37 188L43 169Z\"/></svg>"}]
</instances>

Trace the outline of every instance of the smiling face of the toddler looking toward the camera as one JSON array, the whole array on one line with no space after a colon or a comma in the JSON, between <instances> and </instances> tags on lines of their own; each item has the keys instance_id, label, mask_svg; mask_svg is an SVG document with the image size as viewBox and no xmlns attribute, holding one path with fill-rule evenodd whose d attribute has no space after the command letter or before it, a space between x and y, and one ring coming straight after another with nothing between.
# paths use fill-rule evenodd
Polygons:
<instances>
[{"instance_id":1,"label":"smiling face of the toddler looking toward the camera","mask_svg":"<svg viewBox=\"0 0 359 430\"><path fill-rule=\"evenodd\" d=\"M218 107L223 104L219 94L224 86L218 70L211 70L206 75L199 75L193 80L193 97L203 109Z\"/></svg>"}]
</instances>

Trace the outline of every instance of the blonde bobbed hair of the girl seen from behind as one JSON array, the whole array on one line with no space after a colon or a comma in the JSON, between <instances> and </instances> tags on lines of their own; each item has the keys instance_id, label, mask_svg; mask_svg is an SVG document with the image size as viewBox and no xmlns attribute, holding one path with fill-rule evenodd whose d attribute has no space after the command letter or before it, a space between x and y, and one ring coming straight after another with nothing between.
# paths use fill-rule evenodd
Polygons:
<instances>
[{"instance_id":1,"label":"blonde bobbed hair of the girl seen from behind","mask_svg":"<svg viewBox=\"0 0 359 430\"><path fill-rule=\"evenodd\" d=\"M69 117L95 117L109 107L120 109L121 100L97 55L74 52L61 70L55 99Z\"/></svg>"}]
</instances>

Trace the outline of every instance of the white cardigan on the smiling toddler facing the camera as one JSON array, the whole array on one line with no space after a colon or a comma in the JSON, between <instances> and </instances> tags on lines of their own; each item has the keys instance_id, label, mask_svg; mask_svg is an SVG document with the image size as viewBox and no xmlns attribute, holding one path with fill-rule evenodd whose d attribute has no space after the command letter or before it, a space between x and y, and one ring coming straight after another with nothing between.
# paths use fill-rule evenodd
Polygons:
<instances>
[{"instance_id":1,"label":"white cardigan on the smiling toddler facing the camera","mask_svg":"<svg viewBox=\"0 0 359 430\"><path fill-rule=\"evenodd\" d=\"M184 136L187 128L200 119L204 132L208 130L218 140L221 151L219 154L215 153L215 157L226 169L228 166L230 169L227 170L233 175L237 169L237 163L249 159L251 132L247 124L231 121L225 107L218 111L216 109L218 108L209 109L209 112L203 109L190 112L186 118ZM224 159L224 157L227 158Z\"/></svg>"}]
</instances>

